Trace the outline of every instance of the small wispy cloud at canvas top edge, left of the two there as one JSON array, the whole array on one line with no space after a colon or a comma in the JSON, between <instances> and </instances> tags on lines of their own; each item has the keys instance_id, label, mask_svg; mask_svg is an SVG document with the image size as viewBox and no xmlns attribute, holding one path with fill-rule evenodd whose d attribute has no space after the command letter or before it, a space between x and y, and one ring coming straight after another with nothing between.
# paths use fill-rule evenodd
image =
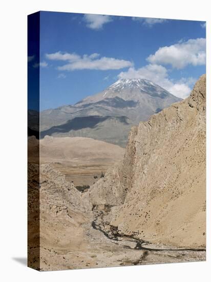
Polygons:
<instances>
[{"instance_id":1,"label":"small wispy cloud at canvas top edge, left of the two there","mask_svg":"<svg viewBox=\"0 0 211 282\"><path fill-rule=\"evenodd\" d=\"M112 17L109 15L85 14L83 19L87 23L87 27L95 30L99 30L104 24L112 22Z\"/></svg>"}]
</instances>

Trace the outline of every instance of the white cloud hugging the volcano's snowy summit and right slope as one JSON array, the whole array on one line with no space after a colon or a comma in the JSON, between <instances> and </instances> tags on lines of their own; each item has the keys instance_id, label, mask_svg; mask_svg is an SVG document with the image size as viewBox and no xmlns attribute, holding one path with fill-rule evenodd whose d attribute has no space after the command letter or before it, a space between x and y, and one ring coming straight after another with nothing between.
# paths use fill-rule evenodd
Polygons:
<instances>
[{"instance_id":1,"label":"white cloud hugging the volcano's snowy summit and right slope","mask_svg":"<svg viewBox=\"0 0 211 282\"><path fill-rule=\"evenodd\" d=\"M139 69L129 68L126 72L120 72L119 78L143 78L163 87L173 95L186 98L192 90L193 83L196 81L192 77L181 78L174 81L168 77L167 69L160 65L146 65Z\"/></svg>"}]
</instances>

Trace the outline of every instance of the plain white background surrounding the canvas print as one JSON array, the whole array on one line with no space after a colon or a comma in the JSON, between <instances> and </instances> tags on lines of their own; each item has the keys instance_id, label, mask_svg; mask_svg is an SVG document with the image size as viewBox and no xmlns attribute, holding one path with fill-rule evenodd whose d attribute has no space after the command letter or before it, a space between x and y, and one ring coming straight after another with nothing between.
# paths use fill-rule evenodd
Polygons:
<instances>
[{"instance_id":1,"label":"plain white background surrounding the canvas print","mask_svg":"<svg viewBox=\"0 0 211 282\"><path fill-rule=\"evenodd\" d=\"M27 256L27 14L39 11L99 13L207 21L207 70L210 70L210 7L207 0L36 0L2 1L1 48L1 249L2 281L208 281L207 261L155 266L38 272ZM210 77L207 72L207 144L210 144ZM210 149L207 147L207 156ZM207 157L207 238L210 238L210 158ZM209 173L208 173L209 171ZM22 263L21 263L22 262ZM210 281L210 280L209 280Z\"/></svg>"}]
</instances>

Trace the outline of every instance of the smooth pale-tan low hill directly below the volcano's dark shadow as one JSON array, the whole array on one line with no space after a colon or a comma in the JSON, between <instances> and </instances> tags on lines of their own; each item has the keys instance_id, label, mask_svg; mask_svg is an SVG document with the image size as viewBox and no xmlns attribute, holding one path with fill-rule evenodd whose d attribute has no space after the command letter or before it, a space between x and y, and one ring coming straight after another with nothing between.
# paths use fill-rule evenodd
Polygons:
<instances>
[{"instance_id":1,"label":"smooth pale-tan low hill directly below the volcano's dark shadow","mask_svg":"<svg viewBox=\"0 0 211 282\"><path fill-rule=\"evenodd\" d=\"M124 149L85 137L52 137L46 136L40 140L40 160L42 163L51 162L72 162L77 164L77 160L82 164L86 162L96 162L98 159L104 159L106 163L117 162L124 155Z\"/></svg>"}]
</instances>

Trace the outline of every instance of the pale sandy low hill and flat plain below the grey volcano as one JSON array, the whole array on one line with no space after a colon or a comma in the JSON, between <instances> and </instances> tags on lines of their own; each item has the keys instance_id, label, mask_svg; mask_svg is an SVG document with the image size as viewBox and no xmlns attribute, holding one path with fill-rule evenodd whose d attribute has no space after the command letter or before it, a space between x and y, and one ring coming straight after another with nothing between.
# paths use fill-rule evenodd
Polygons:
<instances>
[{"instance_id":1,"label":"pale sandy low hill and flat plain below the grey volcano","mask_svg":"<svg viewBox=\"0 0 211 282\"><path fill-rule=\"evenodd\" d=\"M37 157L37 147L38 141L30 137L31 162ZM46 136L40 140L40 163L52 164L75 186L91 186L123 159L124 151L122 147L92 138Z\"/></svg>"}]
</instances>

